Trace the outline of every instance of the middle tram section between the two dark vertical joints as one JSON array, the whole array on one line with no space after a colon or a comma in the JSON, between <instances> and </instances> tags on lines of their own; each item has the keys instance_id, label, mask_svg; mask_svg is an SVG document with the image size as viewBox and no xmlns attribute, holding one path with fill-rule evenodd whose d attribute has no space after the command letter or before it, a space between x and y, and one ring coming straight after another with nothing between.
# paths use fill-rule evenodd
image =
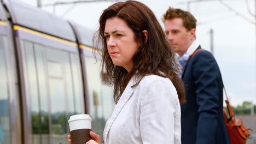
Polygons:
<instances>
[{"instance_id":1,"label":"middle tram section between the two dark vertical joints","mask_svg":"<svg viewBox=\"0 0 256 144\"><path fill-rule=\"evenodd\" d=\"M69 23L19 1L3 1L18 56L22 143L67 143L69 116L84 113L78 45ZM13 142L12 142L13 143Z\"/></svg>"}]
</instances>

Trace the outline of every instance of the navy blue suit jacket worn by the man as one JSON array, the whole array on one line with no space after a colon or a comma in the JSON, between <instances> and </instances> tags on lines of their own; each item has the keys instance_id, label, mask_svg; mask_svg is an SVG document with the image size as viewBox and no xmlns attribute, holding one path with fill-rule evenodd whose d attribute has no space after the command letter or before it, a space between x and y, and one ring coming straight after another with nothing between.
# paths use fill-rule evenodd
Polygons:
<instances>
[{"instance_id":1,"label":"navy blue suit jacket worn by the man","mask_svg":"<svg viewBox=\"0 0 256 144\"><path fill-rule=\"evenodd\" d=\"M182 144L230 143L223 118L222 76L212 54L197 52L182 78L187 100L181 106Z\"/></svg>"}]
</instances>

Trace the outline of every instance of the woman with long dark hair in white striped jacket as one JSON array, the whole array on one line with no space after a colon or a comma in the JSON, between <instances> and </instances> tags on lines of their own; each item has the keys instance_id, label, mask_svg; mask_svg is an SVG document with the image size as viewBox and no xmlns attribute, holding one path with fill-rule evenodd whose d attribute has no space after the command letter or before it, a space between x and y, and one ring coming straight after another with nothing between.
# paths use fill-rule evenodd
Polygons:
<instances>
[{"instance_id":1,"label":"woman with long dark hair in white striped jacket","mask_svg":"<svg viewBox=\"0 0 256 144\"><path fill-rule=\"evenodd\" d=\"M137 1L118 2L100 17L102 71L117 103L104 142L181 143L183 82L176 55L153 12ZM89 143L102 143L90 133ZM71 143L70 136L69 143Z\"/></svg>"}]
</instances>

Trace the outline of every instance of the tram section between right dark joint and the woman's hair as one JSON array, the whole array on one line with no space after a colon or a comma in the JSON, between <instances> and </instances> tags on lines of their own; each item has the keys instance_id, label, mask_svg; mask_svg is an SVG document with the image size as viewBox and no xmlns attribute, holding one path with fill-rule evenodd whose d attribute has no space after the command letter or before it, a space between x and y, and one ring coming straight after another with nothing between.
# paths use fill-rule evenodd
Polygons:
<instances>
[{"instance_id":1,"label":"tram section between right dark joint and the woman's hair","mask_svg":"<svg viewBox=\"0 0 256 144\"><path fill-rule=\"evenodd\" d=\"M92 117L92 130L101 136L107 119L114 109L113 87L102 79L100 73L101 55L96 52L97 61L92 51L94 32L88 28L70 22L79 44L80 58L84 76L86 94L86 113ZM101 51L101 50L100 50Z\"/></svg>"}]
</instances>

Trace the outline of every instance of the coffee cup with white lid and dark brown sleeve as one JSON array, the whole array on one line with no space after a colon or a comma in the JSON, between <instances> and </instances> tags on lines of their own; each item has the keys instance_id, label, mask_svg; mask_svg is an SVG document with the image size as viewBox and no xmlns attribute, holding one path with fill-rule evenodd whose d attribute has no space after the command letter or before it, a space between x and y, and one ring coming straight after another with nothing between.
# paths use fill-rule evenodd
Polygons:
<instances>
[{"instance_id":1,"label":"coffee cup with white lid and dark brown sleeve","mask_svg":"<svg viewBox=\"0 0 256 144\"><path fill-rule=\"evenodd\" d=\"M91 117L86 114L73 115L68 119L72 144L86 143L91 140Z\"/></svg>"}]
</instances>

